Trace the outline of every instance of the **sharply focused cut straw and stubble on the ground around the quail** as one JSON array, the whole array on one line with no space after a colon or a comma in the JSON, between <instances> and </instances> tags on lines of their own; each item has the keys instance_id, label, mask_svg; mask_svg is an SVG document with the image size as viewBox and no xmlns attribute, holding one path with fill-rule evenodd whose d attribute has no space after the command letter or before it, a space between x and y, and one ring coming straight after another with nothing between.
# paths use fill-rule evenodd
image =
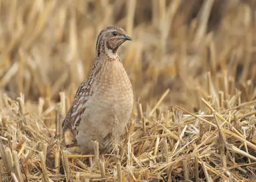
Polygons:
<instances>
[{"instance_id":1,"label":"sharply focused cut straw and stubble on the ground around the quail","mask_svg":"<svg viewBox=\"0 0 256 182\"><path fill-rule=\"evenodd\" d=\"M112 153L105 155L104 162L99 160L98 152L79 155L76 150L61 146L58 126L62 104L38 115L40 106L38 112L29 112L22 97L15 102L2 96L5 110L1 113L1 178L3 181L253 180L256 101L240 103L239 91L225 101L223 92L220 93L220 100L201 98L206 107L202 106L204 109L199 113L182 107L161 110L163 97L145 113L139 103L127 135ZM55 110L57 127L48 128L43 118L47 120L45 116ZM85 160L90 157L94 159L91 165Z\"/></svg>"}]
</instances>

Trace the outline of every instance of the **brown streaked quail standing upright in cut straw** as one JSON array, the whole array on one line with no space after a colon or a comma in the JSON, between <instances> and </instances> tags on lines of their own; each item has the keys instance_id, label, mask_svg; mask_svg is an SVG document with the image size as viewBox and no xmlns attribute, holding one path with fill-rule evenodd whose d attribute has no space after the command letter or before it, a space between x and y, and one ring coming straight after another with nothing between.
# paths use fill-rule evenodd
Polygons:
<instances>
[{"instance_id":1,"label":"brown streaked quail standing upright in cut straw","mask_svg":"<svg viewBox=\"0 0 256 182\"><path fill-rule=\"evenodd\" d=\"M110 152L116 137L126 132L133 107L133 88L117 50L132 38L121 27L106 27L96 41L90 75L79 86L62 123L82 153Z\"/></svg>"}]
</instances>

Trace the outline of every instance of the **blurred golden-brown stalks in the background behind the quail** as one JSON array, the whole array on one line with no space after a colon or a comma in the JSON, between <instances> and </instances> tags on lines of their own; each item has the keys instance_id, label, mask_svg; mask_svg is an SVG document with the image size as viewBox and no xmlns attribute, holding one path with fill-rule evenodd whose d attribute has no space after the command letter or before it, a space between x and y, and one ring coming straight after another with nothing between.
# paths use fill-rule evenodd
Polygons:
<instances>
[{"instance_id":1,"label":"blurred golden-brown stalks in the background behind the quail","mask_svg":"<svg viewBox=\"0 0 256 182\"><path fill-rule=\"evenodd\" d=\"M88 76L96 38L110 25L133 38L118 50L143 106L200 108L199 96L256 96L255 0L1 0L0 88L69 104ZM214 90L207 90L211 72Z\"/></svg>"}]
</instances>

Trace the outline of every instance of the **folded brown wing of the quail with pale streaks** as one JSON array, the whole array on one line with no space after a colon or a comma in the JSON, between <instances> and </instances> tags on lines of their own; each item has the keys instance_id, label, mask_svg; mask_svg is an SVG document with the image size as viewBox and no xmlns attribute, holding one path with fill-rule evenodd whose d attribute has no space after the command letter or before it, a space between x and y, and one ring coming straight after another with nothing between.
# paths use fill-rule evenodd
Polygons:
<instances>
[{"instance_id":1,"label":"folded brown wing of the quail with pale streaks","mask_svg":"<svg viewBox=\"0 0 256 182\"><path fill-rule=\"evenodd\" d=\"M70 129L77 134L77 126L80 124L81 116L85 111L85 103L90 96L90 79L83 81L77 89L72 106L69 108L66 118L63 120L63 130Z\"/></svg>"}]
</instances>

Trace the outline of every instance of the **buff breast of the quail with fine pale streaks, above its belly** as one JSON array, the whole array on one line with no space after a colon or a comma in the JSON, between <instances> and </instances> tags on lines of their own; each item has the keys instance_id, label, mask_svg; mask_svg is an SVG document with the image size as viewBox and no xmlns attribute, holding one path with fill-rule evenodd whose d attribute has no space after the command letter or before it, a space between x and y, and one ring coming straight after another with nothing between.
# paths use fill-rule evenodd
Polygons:
<instances>
[{"instance_id":1,"label":"buff breast of the quail with fine pale streaks, above its belly","mask_svg":"<svg viewBox=\"0 0 256 182\"><path fill-rule=\"evenodd\" d=\"M121 62L109 61L94 79L91 104L99 110L127 110L133 104L129 77Z\"/></svg>"}]
</instances>

